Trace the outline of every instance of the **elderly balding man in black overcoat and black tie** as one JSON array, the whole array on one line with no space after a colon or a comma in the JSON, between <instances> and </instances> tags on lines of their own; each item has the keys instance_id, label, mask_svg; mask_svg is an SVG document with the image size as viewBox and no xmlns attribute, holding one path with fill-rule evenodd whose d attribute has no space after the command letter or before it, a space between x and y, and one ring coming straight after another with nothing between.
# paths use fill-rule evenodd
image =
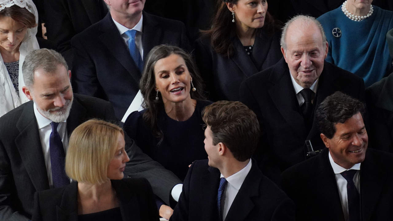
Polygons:
<instances>
[{"instance_id":1,"label":"elderly balding man in black overcoat and black tie","mask_svg":"<svg viewBox=\"0 0 393 221\"><path fill-rule=\"evenodd\" d=\"M305 141L323 149L314 109L330 94L343 91L364 100L360 77L325 62L328 43L321 24L299 15L289 20L281 36L284 58L244 80L241 101L261 125L255 157L263 173L275 182L286 168L306 159Z\"/></svg>"}]
</instances>

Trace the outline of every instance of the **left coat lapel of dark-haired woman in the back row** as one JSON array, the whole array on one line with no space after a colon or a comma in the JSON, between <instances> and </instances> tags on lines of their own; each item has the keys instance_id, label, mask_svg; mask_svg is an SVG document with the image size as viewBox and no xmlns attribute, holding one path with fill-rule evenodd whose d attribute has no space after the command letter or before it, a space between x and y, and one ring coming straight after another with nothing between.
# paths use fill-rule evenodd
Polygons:
<instances>
[{"instance_id":1,"label":"left coat lapel of dark-haired woman in the back row","mask_svg":"<svg viewBox=\"0 0 393 221\"><path fill-rule=\"evenodd\" d=\"M256 41L257 38L255 38ZM237 37L233 38L233 46L235 47L235 53L231 57L232 61L242 70L244 76L250 77L258 72L257 67L250 58L250 55L246 53L244 47ZM259 44L259 43L258 43ZM259 46L258 46L259 48ZM256 59L257 57L255 57Z\"/></svg>"}]
</instances>

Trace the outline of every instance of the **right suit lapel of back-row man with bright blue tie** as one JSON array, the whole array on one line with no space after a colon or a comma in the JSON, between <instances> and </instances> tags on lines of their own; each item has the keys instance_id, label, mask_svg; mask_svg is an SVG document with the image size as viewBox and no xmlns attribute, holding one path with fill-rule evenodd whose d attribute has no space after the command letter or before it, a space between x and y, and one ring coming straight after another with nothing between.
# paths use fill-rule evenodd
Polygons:
<instances>
[{"instance_id":1,"label":"right suit lapel of back-row man with bright blue tie","mask_svg":"<svg viewBox=\"0 0 393 221\"><path fill-rule=\"evenodd\" d=\"M161 44L161 36L162 29L158 25L157 21L152 17L152 15L143 12L143 63L146 62L146 56L151 51L151 49L154 46Z\"/></svg>"}]
</instances>

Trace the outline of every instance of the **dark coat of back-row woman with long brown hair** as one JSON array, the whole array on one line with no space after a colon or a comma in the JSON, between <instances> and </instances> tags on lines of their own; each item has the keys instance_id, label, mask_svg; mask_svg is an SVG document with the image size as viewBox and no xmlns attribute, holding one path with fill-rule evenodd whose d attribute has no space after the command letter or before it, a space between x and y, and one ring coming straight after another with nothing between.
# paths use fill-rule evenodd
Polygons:
<instances>
[{"instance_id":1,"label":"dark coat of back-row woman with long brown hair","mask_svg":"<svg viewBox=\"0 0 393 221\"><path fill-rule=\"evenodd\" d=\"M204 79L209 100L239 101L239 87L247 77L277 63L283 54L280 51L280 32L268 34L261 29L261 35L255 36L252 59L246 53L239 38L232 39L235 53L228 58L217 54L208 36L202 36L195 44L195 59Z\"/></svg>"}]
</instances>

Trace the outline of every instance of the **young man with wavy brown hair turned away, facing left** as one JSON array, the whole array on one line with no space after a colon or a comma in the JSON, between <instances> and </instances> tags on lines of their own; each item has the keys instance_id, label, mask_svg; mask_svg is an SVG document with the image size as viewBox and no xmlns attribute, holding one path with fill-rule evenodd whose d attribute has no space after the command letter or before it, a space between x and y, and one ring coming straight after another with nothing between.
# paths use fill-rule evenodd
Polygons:
<instances>
[{"instance_id":1,"label":"young man with wavy brown hair turned away, facing left","mask_svg":"<svg viewBox=\"0 0 393 221\"><path fill-rule=\"evenodd\" d=\"M294 204L251 159L259 138L252 110L239 101L204 109L205 150L184 179L171 221L294 220Z\"/></svg>"}]
</instances>

